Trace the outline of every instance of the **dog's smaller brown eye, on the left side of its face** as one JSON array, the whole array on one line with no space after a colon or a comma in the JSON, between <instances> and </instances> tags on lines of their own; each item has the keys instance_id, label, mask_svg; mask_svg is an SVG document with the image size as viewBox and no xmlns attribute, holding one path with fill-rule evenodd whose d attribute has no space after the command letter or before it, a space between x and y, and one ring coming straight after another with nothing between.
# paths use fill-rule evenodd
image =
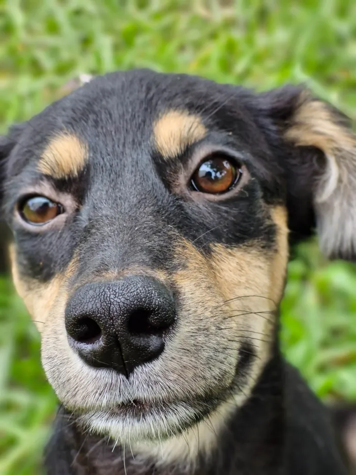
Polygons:
<instances>
[{"instance_id":1,"label":"dog's smaller brown eye, on the left side of its face","mask_svg":"<svg viewBox=\"0 0 356 475\"><path fill-rule=\"evenodd\" d=\"M34 225L43 225L64 212L59 203L45 197L32 197L24 200L20 206L21 217Z\"/></svg>"}]
</instances>

